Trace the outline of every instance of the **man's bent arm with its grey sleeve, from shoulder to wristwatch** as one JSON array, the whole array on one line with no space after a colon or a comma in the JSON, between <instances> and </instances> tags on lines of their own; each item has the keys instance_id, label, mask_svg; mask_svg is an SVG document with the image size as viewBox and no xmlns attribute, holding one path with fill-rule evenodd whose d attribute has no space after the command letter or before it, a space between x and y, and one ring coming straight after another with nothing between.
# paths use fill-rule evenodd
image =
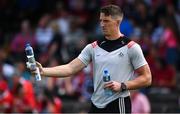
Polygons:
<instances>
[{"instance_id":1,"label":"man's bent arm with its grey sleeve, from shoulder to wristwatch","mask_svg":"<svg viewBox=\"0 0 180 114\"><path fill-rule=\"evenodd\" d=\"M132 45L131 45L132 44ZM131 41L128 44L129 57L137 77L134 80L125 82L127 89L140 89L142 87L149 86L152 81L151 71L149 65L143 55L140 45Z\"/></svg>"}]
</instances>

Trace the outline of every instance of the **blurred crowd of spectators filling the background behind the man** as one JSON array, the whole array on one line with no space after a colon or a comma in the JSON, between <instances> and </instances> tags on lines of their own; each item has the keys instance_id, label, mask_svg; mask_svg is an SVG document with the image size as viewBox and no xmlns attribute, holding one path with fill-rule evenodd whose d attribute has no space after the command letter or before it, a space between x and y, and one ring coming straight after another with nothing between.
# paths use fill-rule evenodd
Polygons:
<instances>
[{"instance_id":1,"label":"blurred crowd of spectators filling the background behind the man","mask_svg":"<svg viewBox=\"0 0 180 114\"><path fill-rule=\"evenodd\" d=\"M99 8L107 4L123 9L121 32L141 45L150 65L152 86L140 92L176 90L179 0L0 0L0 112L64 112L66 100L90 101L91 65L71 78L36 82L26 68L24 48L30 43L44 67L68 63L103 38Z\"/></svg>"}]
</instances>

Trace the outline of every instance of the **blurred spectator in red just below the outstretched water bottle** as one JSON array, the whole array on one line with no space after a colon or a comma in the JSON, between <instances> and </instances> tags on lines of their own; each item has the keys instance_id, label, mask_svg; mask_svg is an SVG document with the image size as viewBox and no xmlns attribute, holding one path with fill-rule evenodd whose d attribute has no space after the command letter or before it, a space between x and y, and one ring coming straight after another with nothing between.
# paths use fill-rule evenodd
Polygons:
<instances>
[{"instance_id":1,"label":"blurred spectator in red just below the outstretched water bottle","mask_svg":"<svg viewBox=\"0 0 180 114\"><path fill-rule=\"evenodd\" d=\"M14 110L13 112L33 112L36 110L36 102L32 83L24 80L18 74L13 76Z\"/></svg>"}]
</instances>

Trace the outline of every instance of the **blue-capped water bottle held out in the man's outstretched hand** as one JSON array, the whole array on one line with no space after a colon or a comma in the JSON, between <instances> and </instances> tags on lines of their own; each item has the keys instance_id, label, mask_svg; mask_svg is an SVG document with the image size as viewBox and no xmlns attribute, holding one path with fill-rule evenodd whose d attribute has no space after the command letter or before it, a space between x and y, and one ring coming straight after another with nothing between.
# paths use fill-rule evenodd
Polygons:
<instances>
[{"instance_id":1,"label":"blue-capped water bottle held out in the man's outstretched hand","mask_svg":"<svg viewBox=\"0 0 180 114\"><path fill-rule=\"evenodd\" d=\"M26 56L27 56L27 59L28 59L27 67L31 71L35 71L35 80L40 81L41 80L41 75L40 75L40 72L39 72L39 68L36 66L36 61L35 61L35 58L34 58L33 48L31 47L31 45L29 43L26 44L25 52L26 52Z\"/></svg>"}]
</instances>

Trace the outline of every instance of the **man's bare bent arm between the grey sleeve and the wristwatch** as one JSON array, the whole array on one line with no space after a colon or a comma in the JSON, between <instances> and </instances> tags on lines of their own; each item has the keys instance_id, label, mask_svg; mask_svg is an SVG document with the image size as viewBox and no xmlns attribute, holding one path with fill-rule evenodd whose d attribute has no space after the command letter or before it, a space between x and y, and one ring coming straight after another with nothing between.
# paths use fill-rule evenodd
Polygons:
<instances>
[{"instance_id":1,"label":"man's bare bent arm between the grey sleeve and the wristwatch","mask_svg":"<svg viewBox=\"0 0 180 114\"><path fill-rule=\"evenodd\" d=\"M151 85L152 76L148 64L136 69L136 73L138 76L134 80L125 82L128 90L139 89Z\"/></svg>"}]
</instances>

